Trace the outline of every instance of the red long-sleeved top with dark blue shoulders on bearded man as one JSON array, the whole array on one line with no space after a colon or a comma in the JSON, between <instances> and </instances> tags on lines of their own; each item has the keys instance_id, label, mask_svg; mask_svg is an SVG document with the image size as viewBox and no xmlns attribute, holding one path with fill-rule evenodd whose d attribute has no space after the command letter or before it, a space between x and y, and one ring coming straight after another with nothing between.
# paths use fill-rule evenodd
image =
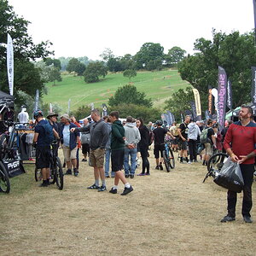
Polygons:
<instances>
[{"instance_id":1,"label":"red long-sleeved top with dark blue shoulders on bearded man","mask_svg":"<svg viewBox=\"0 0 256 256\"><path fill-rule=\"evenodd\" d=\"M232 145L231 145L231 144ZM241 122L235 122L230 125L224 138L224 148L227 150L232 147L232 151L239 158L240 155L247 155L253 151L256 153L256 124L250 122L242 126ZM254 157L245 160L243 164L249 165L254 163Z\"/></svg>"}]
</instances>

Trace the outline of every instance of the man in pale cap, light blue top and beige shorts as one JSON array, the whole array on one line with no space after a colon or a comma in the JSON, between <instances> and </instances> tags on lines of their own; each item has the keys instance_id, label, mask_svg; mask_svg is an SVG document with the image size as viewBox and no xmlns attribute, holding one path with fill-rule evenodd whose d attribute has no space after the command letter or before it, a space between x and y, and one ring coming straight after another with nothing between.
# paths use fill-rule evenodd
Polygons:
<instances>
[{"instance_id":1,"label":"man in pale cap, light blue top and beige shorts","mask_svg":"<svg viewBox=\"0 0 256 256\"><path fill-rule=\"evenodd\" d=\"M73 166L74 176L79 175L77 170L77 148L79 144L79 131L70 132L70 129L77 128L78 126L71 123L69 115L63 113L61 115L61 148L63 150L64 159L67 162L67 172L66 175L71 175L71 167Z\"/></svg>"}]
</instances>

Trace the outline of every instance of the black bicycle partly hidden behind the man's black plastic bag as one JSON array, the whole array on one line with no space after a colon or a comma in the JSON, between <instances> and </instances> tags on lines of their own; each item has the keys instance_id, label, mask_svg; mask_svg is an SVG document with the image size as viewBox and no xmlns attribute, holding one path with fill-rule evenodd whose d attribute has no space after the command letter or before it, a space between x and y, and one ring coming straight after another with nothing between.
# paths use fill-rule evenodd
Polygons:
<instances>
[{"instance_id":1,"label":"black bicycle partly hidden behind the man's black plastic bag","mask_svg":"<svg viewBox=\"0 0 256 256\"><path fill-rule=\"evenodd\" d=\"M213 154L207 163L207 175L203 180L203 183L207 180L208 177L216 177L220 172L224 162L228 159L229 155L225 153Z\"/></svg>"}]
</instances>

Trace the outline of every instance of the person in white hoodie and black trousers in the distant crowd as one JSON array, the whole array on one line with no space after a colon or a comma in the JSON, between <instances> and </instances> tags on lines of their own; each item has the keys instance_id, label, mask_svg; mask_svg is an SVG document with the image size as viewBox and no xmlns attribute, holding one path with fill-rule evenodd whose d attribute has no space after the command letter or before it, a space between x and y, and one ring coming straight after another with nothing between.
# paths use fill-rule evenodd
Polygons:
<instances>
[{"instance_id":1,"label":"person in white hoodie and black trousers in the distant crowd","mask_svg":"<svg viewBox=\"0 0 256 256\"><path fill-rule=\"evenodd\" d=\"M197 162L197 147L196 141L197 137L201 135L201 131L198 125L195 124L194 120L191 120L190 124L188 125L188 145L189 145L189 162L191 164Z\"/></svg>"}]
</instances>

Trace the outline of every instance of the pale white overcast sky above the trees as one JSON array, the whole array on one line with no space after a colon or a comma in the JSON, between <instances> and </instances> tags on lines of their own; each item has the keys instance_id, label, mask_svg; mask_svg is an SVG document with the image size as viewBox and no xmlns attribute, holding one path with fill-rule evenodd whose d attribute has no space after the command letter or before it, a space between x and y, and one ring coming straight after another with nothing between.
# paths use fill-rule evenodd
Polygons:
<instances>
[{"instance_id":1,"label":"pale white overcast sky above the trees","mask_svg":"<svg viewBox=\"0 0 256 256\"><path fill-rule=\"evenodd\" d=\"M9 0L31 24L35 44L49 40L55 58L135 55L144 43L193 54L197 38L218 32L251 32L253 0Z\"/></svg>"}]
</instances>

